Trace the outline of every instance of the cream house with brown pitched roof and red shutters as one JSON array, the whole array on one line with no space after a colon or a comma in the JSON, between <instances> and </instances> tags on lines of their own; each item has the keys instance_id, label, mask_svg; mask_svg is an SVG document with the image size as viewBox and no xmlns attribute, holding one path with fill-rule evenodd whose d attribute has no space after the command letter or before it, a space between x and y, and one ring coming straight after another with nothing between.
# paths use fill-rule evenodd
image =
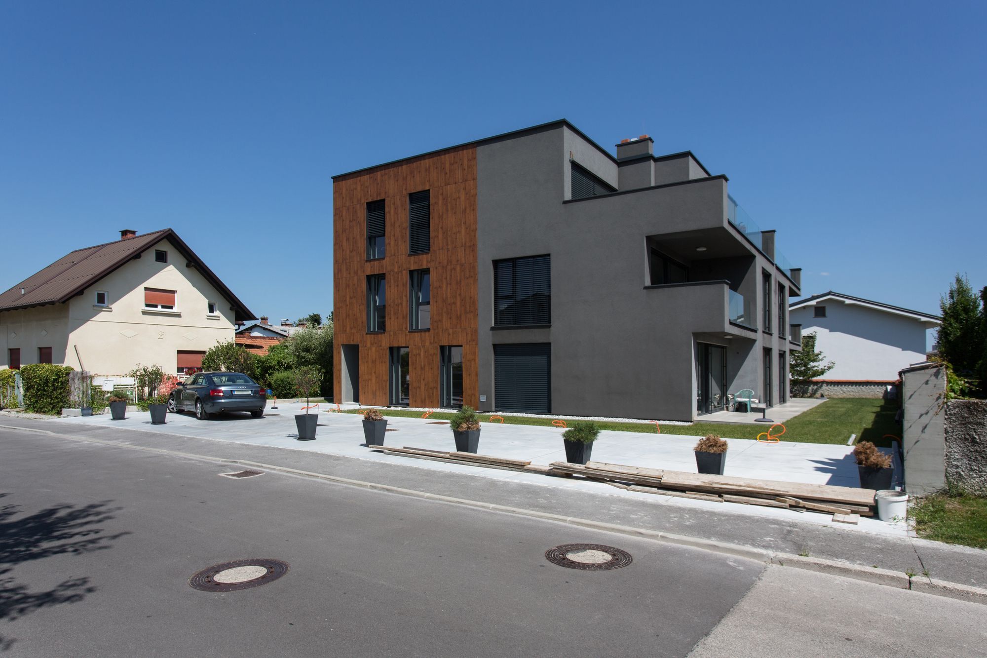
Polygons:
<instances>
[{"instance_id":1,"label":"cream house with brown pitched roof and red shutters","mask_svg":"<svg viewBox=\"0 0 987 658\"><path fill-rule=\"evenodd\" d=\"M170 228L77 249L0 292L0 369L181 373L255 319Z\"/></svg>"}]
</instances>

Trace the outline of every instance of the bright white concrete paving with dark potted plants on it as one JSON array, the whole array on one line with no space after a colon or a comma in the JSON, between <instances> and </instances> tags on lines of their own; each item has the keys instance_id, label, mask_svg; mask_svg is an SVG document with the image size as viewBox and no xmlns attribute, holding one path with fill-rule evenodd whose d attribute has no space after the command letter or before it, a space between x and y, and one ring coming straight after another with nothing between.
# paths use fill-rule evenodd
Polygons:
<instances>
[{"instance_id":1,"label":"bright white concrete paving with dark potted plants on it","mask_svg":"<svg viewBox=\"0 0 987 658\"><path fill-rule=\"evenodd\" d=\"M338 454L359 459L396 463L431 471L456 472L494 480L511 480L563 489L585 491L606 490L612 495L645 499L651 504L669 505L693 510L723 511L745 516L768 519L786 519L799 524L830 526L832 515L799 513L794 510L714 503L709 501L672 498L655 494L621 491L599 482L578 479L547 477L533 473L497 470L479 466L465 466L440 461L415 459L395 454L370 451L363 446L362 417L356 414L327 413L325 406L319 413L319 430L315 441L299 442L294 415L302 413L304 405L284 403L277 409L268 409L263 419L252 419L246 414L216 416L199 421L189 413L169 414L165 425L151 425L146 412L128 414L123 421L113 421L108 415L63 418L54 421L59 425L107 429L140 429L163 435L193 437L218 441L269 446L281 449L302 450ZM437 451L455 450L448 423L420 418L388 418L385 443L397 447L424 448ZM548 464L565 461L562 442L563 430L555 427L528 425L500 425L485 423L480 438L481 454L512 459L528 459L532 463ZM696 472L693 447L697 437L679 435L642 434L635 432L604 431L593 444L593 459L610 463L664 468ZM782 442L758 443L745 439L726 439L729 451L725 474L757 479L860 486L857 464L848 446L801 444ZM850 527L858 532L885 535L907 535L904 524L887 524L876 518L862 518L860 525Z\"/></svg>"}]
</instances>

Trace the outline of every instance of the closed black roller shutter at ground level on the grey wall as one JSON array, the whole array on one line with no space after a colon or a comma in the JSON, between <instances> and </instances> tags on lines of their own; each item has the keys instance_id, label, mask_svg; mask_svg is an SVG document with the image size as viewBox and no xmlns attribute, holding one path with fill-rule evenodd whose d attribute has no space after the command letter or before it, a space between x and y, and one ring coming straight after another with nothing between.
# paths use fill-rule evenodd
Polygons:
<instances>
[{"instance_id":1,"label":"closed black roller shutter at ground level on the grey wall","mask_svg":"<svg viewBox=\"0 0 987 658\"><path fill-rule=\"evenodd\" d=\"M493 395L497 411L552 413L552 344L494 345Z\"/></svg>"}]
</instances>

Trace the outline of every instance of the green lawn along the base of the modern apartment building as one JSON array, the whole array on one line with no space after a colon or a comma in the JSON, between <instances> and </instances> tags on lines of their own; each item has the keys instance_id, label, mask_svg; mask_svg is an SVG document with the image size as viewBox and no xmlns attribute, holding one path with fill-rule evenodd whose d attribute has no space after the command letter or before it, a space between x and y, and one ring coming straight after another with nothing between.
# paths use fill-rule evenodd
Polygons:
<instances>
[{"instance_id":1,"label":"green lawn along the base of the modern apartment building","mask_svg":"<svg viewBox=\"0 0 987 658\"><path fill-rule=\"evenodd\" d=\"M782 441L796 441L812 444L846 444L851 434L858 439L873 441L877 446L890 446L890 439L882 439L885 434L900 434L894 413L897 407L893 402L869 399L831 399L809 409L785 424L786 432ZM343 413L359 413L347 410ZM420 411L402 409L382 409L385 416L419 418ZM481 422L488 422L490 414L477 414ZM429 420L449 420L451 413L435 412ZM506 425L551 426L551 417L529 418L525 416L503 416ZM494 421L496 422L496 421ZM642 432L654 434L653 423L599 423L601 429L621 432ZM693 423L692 425L662 425L661 434L705 437L716 434L729 439L756 439L767 431L764 425L734 425L724 423ZM777 430L776 430L777 432Z\"/></svg>"}]
</instances>

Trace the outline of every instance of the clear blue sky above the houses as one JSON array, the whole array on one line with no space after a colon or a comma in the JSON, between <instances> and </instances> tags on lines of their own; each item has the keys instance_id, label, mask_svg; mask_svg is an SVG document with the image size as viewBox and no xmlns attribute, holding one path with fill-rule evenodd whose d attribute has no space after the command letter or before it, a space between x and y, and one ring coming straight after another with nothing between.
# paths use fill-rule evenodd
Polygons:
<instances>
[{"instance_id":1,"label":"clear blue sky above the houses","mask_svg":"<svg viewBox=\"0 0 987 658\"><path fill-rule=\"evenodd\" d=\"M566 118L692 150L802 290L987 286L987 5L0 3L0 289L171 226L258 314L333 307L331 176Z\"/></svg>"}]
</instances>

